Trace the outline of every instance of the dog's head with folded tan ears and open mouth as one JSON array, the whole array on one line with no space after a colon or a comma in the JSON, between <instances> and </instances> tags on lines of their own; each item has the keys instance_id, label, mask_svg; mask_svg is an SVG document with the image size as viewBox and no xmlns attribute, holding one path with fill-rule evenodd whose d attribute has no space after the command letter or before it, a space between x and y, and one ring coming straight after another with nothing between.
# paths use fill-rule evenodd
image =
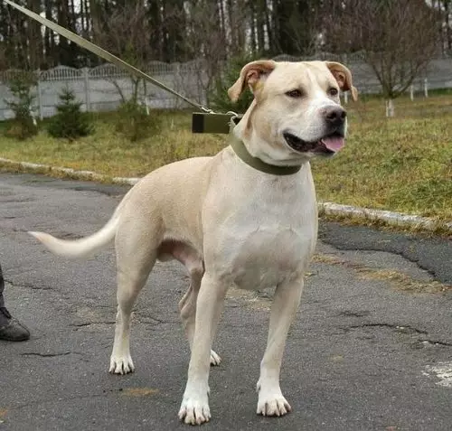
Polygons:
<instances>
[{"instance_id":1,"label":"dog's head with folded tan ears and open mouth","mask_svg":"<svg viewBox=\"0 0 452 431\"><path fill-rule=\"evenodd\" d=\"M252 61L229 89L232 101L250 87L254 100L237 127L252 155L270 164L300 164L334 155L344 145L347 118L339 90L357 90L352 74L332 61Z\"/></svg>"}]
</instances>

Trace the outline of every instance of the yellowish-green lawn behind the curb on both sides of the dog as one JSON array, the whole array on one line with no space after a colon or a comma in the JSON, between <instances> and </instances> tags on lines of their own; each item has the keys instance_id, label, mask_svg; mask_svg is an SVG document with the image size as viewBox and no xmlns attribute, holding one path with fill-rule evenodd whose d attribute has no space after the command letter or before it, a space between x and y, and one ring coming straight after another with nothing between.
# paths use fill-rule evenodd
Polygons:
<instances>
[{"instance_id":1,"label":"yellowish-green lawn behind the curb on both sides of the dog","mask_svg":"<svg viewBox=\"0 0 452 431\"><path fill-rule=\"evenodd\" d=\"M395 107L396 117L388 119L379 98L347 105L344 150L313 162L319 200L452 220L452 96L400 98ZM225 136L193 135L190 112L153 115L161 118L162 132L138 143L114 133L114 113L96 115L95 135L74 142L45 132L19 142L0 130L0 156L108 176L142 176L174 160L214 155L225 145Z\"/></svg>"}]
</instances>

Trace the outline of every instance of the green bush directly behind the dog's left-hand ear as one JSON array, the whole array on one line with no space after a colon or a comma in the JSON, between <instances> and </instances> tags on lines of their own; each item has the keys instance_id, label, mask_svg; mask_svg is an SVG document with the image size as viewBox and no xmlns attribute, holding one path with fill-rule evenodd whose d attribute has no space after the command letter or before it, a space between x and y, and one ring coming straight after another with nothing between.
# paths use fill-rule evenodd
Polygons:
<instances>
[{"instance_id":1,"label":"green bush directly behind the dog's left-hand ear","mask_svg":"<svg viewBox=\"0 0 452 431\"><path fill-rule=\"evenodd\" d=\"M211 91L210 101L212 108L221 112L232 111L243 114L250 107L253 100L250 89L246 89L235 103L229 98L228 89L239 78L241 68L256 59L256 57L251 57L250 55L242 55L240 57L234 57L228 62L225 70L216 80L214 88Z\"/></svg>"}]
</instances>

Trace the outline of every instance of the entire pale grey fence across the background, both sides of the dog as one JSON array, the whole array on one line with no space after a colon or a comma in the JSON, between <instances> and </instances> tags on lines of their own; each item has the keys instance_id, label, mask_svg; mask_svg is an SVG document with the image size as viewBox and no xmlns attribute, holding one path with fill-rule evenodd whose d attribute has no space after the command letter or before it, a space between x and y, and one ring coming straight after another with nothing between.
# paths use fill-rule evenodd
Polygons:
<instances>
[{"instance_id":1,"label":"entire pale grey fence across the background, both sides of the dog","mask_svg":"<svg viewBox=\"0 0 452 431\"><path fill-rule=\"evenodd\" d=\"M321 54L317 60L342 61L353 72L353 83L361 93L380 93L381 85L368 64L363 62L359 54L338 56ZM275 60L314 60L295 58L285 55ZM202 61L186 63L165 63L154 61L146 72L168 87L184 94L199 103L206 100L206 77L202 72ZM19 74L20 70L7 70L0 73L0 120L13 117L6 100L12 100L7 81ZM93 69L72 69L59 66L52 70L36 71L37 86L33 89L36 96L33 112L36 117L52 117L55 106L60 102L58 95L61 89L69 87L82 108L88 111L105 111L118 108L121 94L128 98L132 94L132 80L124 70L112 64L104 64ZM440 58L430 62L426 73L413 83L412 92L425 95L428 89L452 89L452 59ZM150 83L139 87L138 98L149 108L183 108L184 101L158 89Z\"/></svg>"}]
</instances>

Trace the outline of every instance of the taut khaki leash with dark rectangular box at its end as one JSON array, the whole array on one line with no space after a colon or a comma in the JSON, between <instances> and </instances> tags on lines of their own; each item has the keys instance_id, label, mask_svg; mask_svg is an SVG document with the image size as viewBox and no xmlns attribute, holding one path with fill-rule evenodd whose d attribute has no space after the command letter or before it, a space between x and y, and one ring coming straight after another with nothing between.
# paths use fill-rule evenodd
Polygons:
<instances>
[{"instance_id":1,"label":"taut khaki leash with dark rectangular box at its end","mask_svg":"<svg viewBox=\"0 0 452 431\"><path fill-rule=\"evenodd\" d=\"M39 14L35 14L33 11L27 9L24 6L17 5L16 3L12 2L11 0L3 0L4 3L7 5L10 5L17 9L18 11L22 12L23 14L29 16L30 18L33 18L33 20L37 21L38 23L42 23L42 25L45 25L46 27L53 30L53 32L61 34L61 36L64 36L65 38L69 39L71 42L77 43L85 50L88 50L89 52L93 52L96 55L99 55L99 57L103 58L104 60L107 60L113 64L116 64L117 66L120 66L126 70L128 70L132 75L135 75L139 78L142 78L144 80L147 80L154 84L156 87L160 89L164 89L168 93L173 94L177 98L183 99L186 103L189 105L192 105L194 108L201 109L202 112L195 112L193 113L192 117L192 131L193 133L221 133L221 134L228 134L230 129L230 121L231 117L234 115L231 112L228 112L227 114L217 114L212 111L210 108L205 108L201 104L194 102L193 100L190 100L189 98L185 98L182 94L178 93L174 89L170 89L169 87L166 87L165 84L162 82L155 80L151 76L149 76L147 73L145 73L142 70L137 69L136 67L132 66L131 64L128 64L126 61L123 61L119 59L116 55L113 55L111 52L108 52L104 50L103 48L100 48L98 45L87 41L86 39L83 39L81 36L79 36L76 33L72 33L70 30L62 27L60 24L54 23L51 20L48 20L47 18L44 18L43 16Z\"/></svg>"}]
</instances>

